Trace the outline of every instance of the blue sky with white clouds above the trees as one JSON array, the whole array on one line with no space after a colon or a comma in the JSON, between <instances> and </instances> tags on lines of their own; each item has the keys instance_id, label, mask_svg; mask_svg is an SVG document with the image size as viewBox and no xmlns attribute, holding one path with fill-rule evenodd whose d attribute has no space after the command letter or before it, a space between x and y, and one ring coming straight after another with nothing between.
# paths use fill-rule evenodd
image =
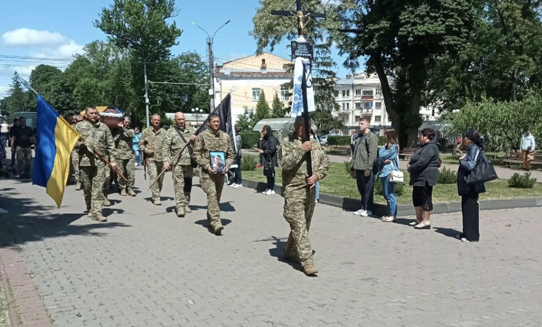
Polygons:
<instances>
[{"instance_id":1,"label":"blue sky with white clouds above the trees","mask_svg":"<svg viewBox=\"0 0 542 327\"><path fill-rule=\"evenodd\" d=\"M95 28L101 9L112 0L68 1L27 0L5 1L0 11L0 98L7 96L11 77L17 70L27 79L39 64L65 69L83 46L94 40L105 41L106 35ZM214 56L217 64L253 55L256 41L248 33L253 29L252 18L258 0L176 0L177 17L173 18L182 35L173 46L172 55L195 51L207 56L205 33L191 24L197 23L212 35L228 19L230 23L217 32ZM287 43L276 46L275 55L290 58ZM341 66L343 59L333 49L338 77L347 74ZM44 59L47 58L47 59ZM37 90L39 92L39 90Z\"/></svg>"}]
</instances>

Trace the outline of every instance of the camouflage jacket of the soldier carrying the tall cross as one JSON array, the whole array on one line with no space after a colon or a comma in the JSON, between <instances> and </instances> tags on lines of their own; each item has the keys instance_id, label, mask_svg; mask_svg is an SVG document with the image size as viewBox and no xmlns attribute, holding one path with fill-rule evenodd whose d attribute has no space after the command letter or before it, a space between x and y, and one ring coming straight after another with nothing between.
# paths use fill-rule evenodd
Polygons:
<instances>
[{"instance_id":1,"label":"camouflage jacket of the soldier carrying the tall cross","mask_svg":"<svg viewBox=\"0 0 542 327\"><path fill-rule=\"evenodd\" d=\"M317 140L311 139L312 171L318 180L326 177L330 159ZM291 135L282 139L279 145L279 162L282 168L282 194L295 196L305 192L307 185L306 152L301 149L301 139Z\"/></svg>"}]
</instances>

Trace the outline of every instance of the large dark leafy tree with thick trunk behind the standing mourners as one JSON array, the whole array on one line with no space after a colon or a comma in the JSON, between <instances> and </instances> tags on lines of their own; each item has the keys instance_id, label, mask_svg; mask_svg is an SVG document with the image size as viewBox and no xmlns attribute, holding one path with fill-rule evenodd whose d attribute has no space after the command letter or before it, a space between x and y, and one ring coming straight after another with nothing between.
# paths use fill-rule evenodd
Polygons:
<instances>
[{"instance_id":1,"label":"large dark leafy tree with thick trunk behind the standing mourners","mask_svg":"<svg viewBox=\"0 0 542 327\"><path fill-rule=\"evenodd\" d=\"M386 111L402 146L416 141L428 72L436 58L455 56L473 28L475 0L345 0L337 43L345 63L376 72ZM345 33L345 34L341 34Z\"/></svg>"}]
</instances>

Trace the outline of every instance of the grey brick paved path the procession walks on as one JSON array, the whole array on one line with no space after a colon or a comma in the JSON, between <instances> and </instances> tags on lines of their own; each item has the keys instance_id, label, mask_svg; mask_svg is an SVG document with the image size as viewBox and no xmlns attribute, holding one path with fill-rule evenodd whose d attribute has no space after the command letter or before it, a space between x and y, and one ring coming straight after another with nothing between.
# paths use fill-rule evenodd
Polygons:
<instances>
[{"instance_id":1,"label":"grey brick paved path the procession walks on","mask_svg":"<svg viewBox=\"0 0 542 327\"><path fill-rule=\"evenodd\" d=\"M145 185L137 170L137 185ZM171 173L163 195L172 195ZM195 178L197 183L197 178ZM542 209L487 211L481 242L460 215L418 231L318 205L318 277L283 262L282 198L225 188L224 235L204 228L205 197L177 218L173 199L111 196L107 223L81 213L69 186L57 210L44 189L2 181L0 246L21 255L50 316L78 326L530 326L542 324ZM121 201L121 202L119 202Z\"/></svg>"}]
</instances>

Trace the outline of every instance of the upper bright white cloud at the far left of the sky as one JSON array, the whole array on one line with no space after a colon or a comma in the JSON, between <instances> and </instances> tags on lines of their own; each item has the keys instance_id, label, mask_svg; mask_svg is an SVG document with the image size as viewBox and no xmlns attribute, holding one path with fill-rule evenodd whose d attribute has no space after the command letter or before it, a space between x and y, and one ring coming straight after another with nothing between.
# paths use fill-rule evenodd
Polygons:
<instances>
[{"instance_id":1,"label":"upper bright white cloud at the far left of the sky","mask_svg":"<svg viewBox=\"0 0 542 327\"><path fill-rule=\"evenodd\" d=\"M8 46L34 46L64 44L69 40L59 32L40 31L20 28L2 34L2 40Z\"/></svg>"}]
</instances>

